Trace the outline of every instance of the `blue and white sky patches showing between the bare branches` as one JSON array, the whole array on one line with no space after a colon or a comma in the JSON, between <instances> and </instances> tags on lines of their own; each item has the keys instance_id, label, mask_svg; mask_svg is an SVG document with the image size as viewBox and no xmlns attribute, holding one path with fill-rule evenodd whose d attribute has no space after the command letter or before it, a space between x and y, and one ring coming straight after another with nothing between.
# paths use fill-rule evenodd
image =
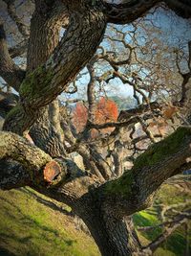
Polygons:
<instances>
[{"instance_id":1,"label":"blue and white sky patches showing between the bare branches","mask_svg":"<svg viewBox=\"0 0 191 256\"><path fill-rule=\"evenodd\" d=\"M120 2L120 1L110 1L110 2ZM148 14L147 18L152 18L153 23L159 27L159 30L161 32L161 38L162 35L163 38L165 38L165 43L174 44L175 46L177 43L179 43L180 39L183 38L183 40L186 42L189 39L191 39L191 20L186 20L183 18L180 18L175 13L172 14L172 12L168 12L162 9L159 9L158 12L155 12L154 14ZM130 26L116 26L117 29L120 30L128 30ZM108 32L109 34L110 32ZM63 34L63 31L61 32ZM166 35L168 35L168 42L166 42ZM102 42L103 45L106 45L104 42ZM117 49L116 49L117 50ZM19 59L17 59L17 63L19 63ZM82 73L86 72L86 70L82 70ZM0 80L1 82L2 80ZM75 94L71 96L72 98L78 98L83 97L84 90L86 89L87 83L89 81L89 76L85 75L81 78L81 80L78 82L79 87L81 88L79 94ZM129 95L132 95L133 90L130 86L123 85L121 81L118 79L115 79L110 82L108 86L105 87L105 90L107 91L108 95L117 94L119 97L126 97Z\"/></svg>"}]
</instances>

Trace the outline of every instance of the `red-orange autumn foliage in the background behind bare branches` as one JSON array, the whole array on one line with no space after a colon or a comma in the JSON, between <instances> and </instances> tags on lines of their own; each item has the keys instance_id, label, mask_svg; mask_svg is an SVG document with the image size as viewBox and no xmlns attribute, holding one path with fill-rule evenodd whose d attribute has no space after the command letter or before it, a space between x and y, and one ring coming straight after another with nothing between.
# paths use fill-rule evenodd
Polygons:
<instances>
[{"instance_id":1,"label":"red-orange autumn foliage in the background behind bare branches","mask_svg":"<svg viewBox=\"0 0 191 256\"><path fill-rule=\"evenodd\" d=\"M114 101L101 97L99 102L96 104L95 123L105 124L108 122L116 122L118 116L117 105ZM88 110L85 105L77 103L74 108L73 124L77 132L83 131L88 119ZM101 129L101 134L110 133L114 128ZM98 131L92 130L92 137L96 137Z\"/></svg>"}]
</instances>

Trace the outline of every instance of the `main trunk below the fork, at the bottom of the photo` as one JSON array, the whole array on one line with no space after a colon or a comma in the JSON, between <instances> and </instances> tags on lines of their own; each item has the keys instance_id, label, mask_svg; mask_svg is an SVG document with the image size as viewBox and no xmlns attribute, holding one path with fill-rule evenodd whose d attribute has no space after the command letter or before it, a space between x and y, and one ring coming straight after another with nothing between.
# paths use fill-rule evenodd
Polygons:
<instances>
[{"instance_id":1,"label":"main trunk below the fork, at the bottom of the photo","mask_svg":"<svg viewBox=\"0 0 191 256\"><path fill-rule=\"evenodd\" d=\"M131 217L117 219L103 212L96 202L83 203L75 210L88 226L102 256L128 256L140 250L138 236Z\"/></svg>"}]
</instances>

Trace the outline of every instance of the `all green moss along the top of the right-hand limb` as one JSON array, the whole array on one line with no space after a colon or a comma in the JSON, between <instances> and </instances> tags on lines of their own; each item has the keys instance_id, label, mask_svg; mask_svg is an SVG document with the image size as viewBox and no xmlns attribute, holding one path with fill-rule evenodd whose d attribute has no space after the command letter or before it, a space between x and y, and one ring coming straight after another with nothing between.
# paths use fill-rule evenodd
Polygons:
<instances>
[{"instance_id":1,"label":"all green moss along the top of the right-hand limb","mask_svg":"<svg viewBox=\"0 0 191 256\"><path fill-rule=\"evenodd\" d=\"M164 158L176 153L188 136L191 136L191 128L180 127L164 140L152 145L147 151L138 156L132 170L105 184L104 192L130 197L133 193L135 170L154 166Z\"/></svg>"}]
</instances>

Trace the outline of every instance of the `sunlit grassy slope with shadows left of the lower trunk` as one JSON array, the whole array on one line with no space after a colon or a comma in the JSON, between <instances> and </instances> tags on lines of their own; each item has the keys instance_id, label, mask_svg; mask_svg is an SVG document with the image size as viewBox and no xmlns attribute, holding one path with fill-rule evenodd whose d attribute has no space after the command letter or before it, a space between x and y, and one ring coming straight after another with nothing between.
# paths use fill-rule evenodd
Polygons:
<instances>
[{"instance_id":1,"label":"sunlit grassy slope with shadows left of the lower trunk","mask_svg":"<svg viewBox=\"0 0 191 256\"><path fill-rule=\"evenodd\" d=\"M32 196L33 195L33 196ZM0 191L0 255L96 256L94 241L76 231L73 220L31 189ZM69 208L65 209L70 210Z\"/></svg>"}]
</instances>

